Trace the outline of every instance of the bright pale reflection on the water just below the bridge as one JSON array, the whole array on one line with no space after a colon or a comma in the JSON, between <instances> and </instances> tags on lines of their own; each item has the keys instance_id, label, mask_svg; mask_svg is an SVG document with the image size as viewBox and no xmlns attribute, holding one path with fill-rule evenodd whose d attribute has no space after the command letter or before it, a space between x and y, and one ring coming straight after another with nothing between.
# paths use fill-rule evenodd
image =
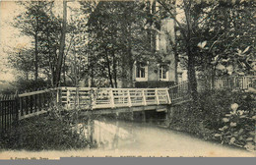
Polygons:
<instances>
[{"instance_id":1,"label":"bright pale reflection on the water just below the bridge","mask_svg":"<svg viewBox=\"0 0 256 165\"><path fill-rule=\"evenodd\" d=\"M135 139L133 123L126 123L125 128L120 127L119 124L120 121L91 120L87 124L78 124L75 130L81 138L89 141L91 147L116 149Z\"/></svg>"}]
</instances>

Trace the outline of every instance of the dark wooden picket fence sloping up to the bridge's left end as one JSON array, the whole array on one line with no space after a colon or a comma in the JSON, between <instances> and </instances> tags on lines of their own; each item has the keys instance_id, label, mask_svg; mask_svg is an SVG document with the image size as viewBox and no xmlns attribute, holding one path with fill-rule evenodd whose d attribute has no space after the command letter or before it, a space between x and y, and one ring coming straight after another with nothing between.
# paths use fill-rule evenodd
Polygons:
<instances>
[{"instance_id":1,"label":"dark wooden picket fence sloping up to the bridge's left end","mask_svg":"<svg viewBox=\"0 0 256 165\"><path fill-rule=\"evenodd\" d=\"M0 133L10 130L19 120L46 113L56 101L55 88L0 96Z\"/></svg>"}]
</instances>

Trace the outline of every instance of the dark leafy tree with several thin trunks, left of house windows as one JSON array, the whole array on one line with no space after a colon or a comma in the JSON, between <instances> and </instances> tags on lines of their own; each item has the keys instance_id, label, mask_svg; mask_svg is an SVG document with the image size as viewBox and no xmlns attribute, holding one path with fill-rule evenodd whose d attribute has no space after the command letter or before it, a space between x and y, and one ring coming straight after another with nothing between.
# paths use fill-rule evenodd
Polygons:
<instances>
[{"instance_id":1,"label":"dark leafy tree with several thin trunks, left of house windows","mask_svg":"<svg viewBox=\"0 0 256 165\"><path fill-rule=\"evenodd\" d=\"M154 58L145 29L147 12L144 2L99 2L90 16L90 44L96 50L91 59L100 61L98 65L112 87L117 86L117 80L122 80L123 87L131 87L134 62Z\"/></svg>"}]
</instances>

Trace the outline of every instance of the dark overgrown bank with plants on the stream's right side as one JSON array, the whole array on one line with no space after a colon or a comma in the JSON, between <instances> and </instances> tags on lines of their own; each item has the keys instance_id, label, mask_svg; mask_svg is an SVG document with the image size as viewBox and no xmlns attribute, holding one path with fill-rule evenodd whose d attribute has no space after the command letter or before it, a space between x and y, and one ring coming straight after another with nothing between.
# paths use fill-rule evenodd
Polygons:
<instances>
[{"instance_id":1,"label":"dark overgrown bank with plants on the stream's right side","mask_svg":"<svg viewBox=\"0 0 256 165\"><path fill-rule=\"evenodd\" d=\"M255 98L255 93L242 91L200 93L197 109L192 109L189 103L176 107L170 127L199 138L254 150Z\"/></svg>"}]
</instances>

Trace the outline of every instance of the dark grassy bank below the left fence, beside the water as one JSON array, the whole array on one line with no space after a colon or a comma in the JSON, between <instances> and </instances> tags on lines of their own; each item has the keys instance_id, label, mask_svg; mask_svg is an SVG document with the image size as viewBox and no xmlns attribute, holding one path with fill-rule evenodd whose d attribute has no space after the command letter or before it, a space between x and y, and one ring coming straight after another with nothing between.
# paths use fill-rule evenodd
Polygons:
<instances>
[{"instance_id":1,"label":"dark grassy bank below the left fence, beside the water","mask_svg":"<svg viewBox=\"0 0 256 165\"><path fill-rule=\"evenodd\" d=\"M0 138L1 150L63 150L87 145L85 139L72 131L71 125L47 114L20 121L17 127Z\"/></svg>"}]
</instances>

